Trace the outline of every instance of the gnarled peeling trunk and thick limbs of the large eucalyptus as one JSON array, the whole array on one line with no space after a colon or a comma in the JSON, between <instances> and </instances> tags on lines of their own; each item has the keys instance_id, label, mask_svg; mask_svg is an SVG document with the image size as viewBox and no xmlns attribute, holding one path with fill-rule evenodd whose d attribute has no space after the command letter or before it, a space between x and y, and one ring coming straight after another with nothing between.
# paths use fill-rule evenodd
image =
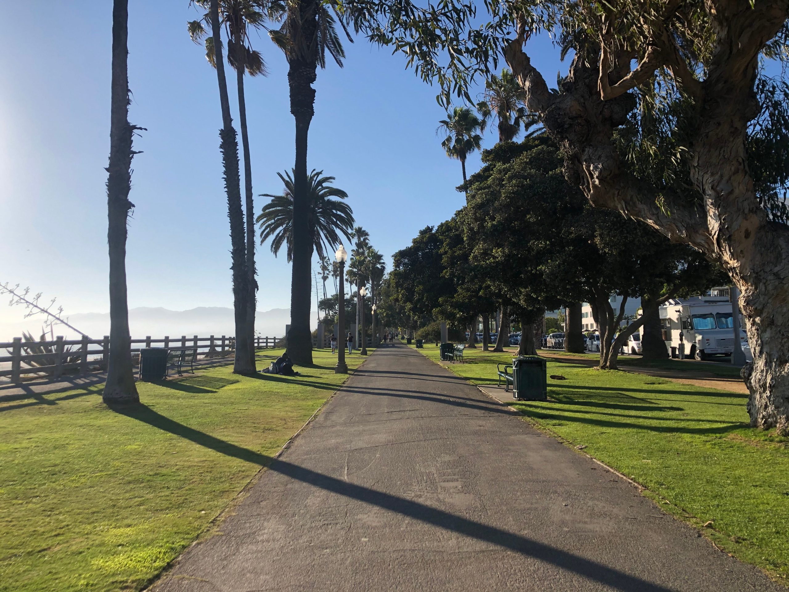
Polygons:
<instances>
[{"instance_id":1,"label":"gnarled peeling trunk and thick limbs of the large eucalyptus","mask_svg":"<svg viewBox=\"0 0 789 592\"><path fill-rule=\"evenodd\" d=\"M668 66L697 109L692 158L686 162L703 196L698 208L686 197L635 178L621 162L613 137L636 107L634 97L626 93L632 88L625 81L631 56L615 59L618 65L610 72L602 58L600 67L589 64L589 56L575 59L563 93L554 95L522 49L525 28L505 49L507 63L525 91L525 106L540 114L548 133L562 146L565 172L589 201L641 219L672 241L694 246L731 275L741 292L754 359L743 371L750 390L751 425L775 427L781 433L789 432L789 227L768 221L758 203L746 137L748 122L758 114L753 92L758 56L783 27L787 13L786 2L715 6L709 13L714 58L704 81L696 81L687 71L679 52L656 48L660 55L653 71ZM659 24L666 21L656 19ZM623 92L611 92L619 84Z\"/></svg>"}]
</instances>

